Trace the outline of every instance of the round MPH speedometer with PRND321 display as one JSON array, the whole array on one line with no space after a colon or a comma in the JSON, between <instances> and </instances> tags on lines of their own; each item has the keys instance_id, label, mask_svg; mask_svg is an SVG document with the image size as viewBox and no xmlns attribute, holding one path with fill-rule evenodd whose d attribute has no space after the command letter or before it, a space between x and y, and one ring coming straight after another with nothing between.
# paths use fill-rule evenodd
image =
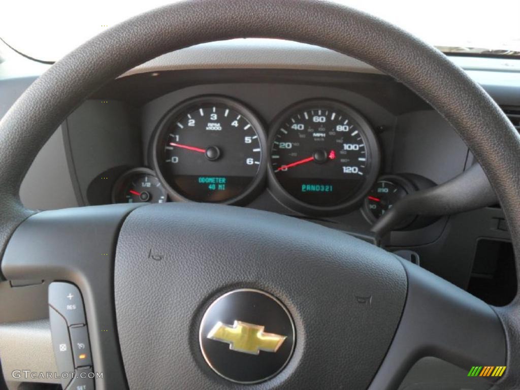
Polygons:
<instances>
[{"instance_id":1,"label":"round MPH speedometer with PRND321 display","mask_svg":"<svg viewBox=\"0 0 520 390\"><path fill-rule=\"evenodd\" d=\"M356 206L379 170L379 147L368 122L331 100L299 103L271 127L270 177L297 211L344 212Z\"/></svg>"}]
</instances>

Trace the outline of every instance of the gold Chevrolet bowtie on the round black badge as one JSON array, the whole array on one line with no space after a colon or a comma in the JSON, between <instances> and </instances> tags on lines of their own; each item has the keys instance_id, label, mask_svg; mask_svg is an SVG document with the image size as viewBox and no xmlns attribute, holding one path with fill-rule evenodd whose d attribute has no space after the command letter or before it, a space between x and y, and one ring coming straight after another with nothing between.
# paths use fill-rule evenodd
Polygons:
<instances>
[{"instance_id":1,"label":"gold Chevrolet bowtie on the round black badge","mask_svg":"<svg viewBox=\"0 0 520 390\"><path fill-rule=\"evenodd\" d=\"M264 327L252 323L235 321L226 325L218 321L207 338L229 344L229 349L251 355L258 355L261 350L276 352L287 336L264 332Z\"/></svg>"}]
</instances>

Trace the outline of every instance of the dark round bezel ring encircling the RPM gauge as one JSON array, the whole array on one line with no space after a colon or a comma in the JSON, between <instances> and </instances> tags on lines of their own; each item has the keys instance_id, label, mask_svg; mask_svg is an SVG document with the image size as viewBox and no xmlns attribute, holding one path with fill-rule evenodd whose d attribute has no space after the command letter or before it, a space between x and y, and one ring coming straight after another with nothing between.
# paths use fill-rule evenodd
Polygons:
<instances>
[{"instance_id":1,"label":"dark round bezel ring encircling the RPM gauge","mask_svg":"<svg viewBox=\"0 0 520 390\"><path fill-rule=\"evenodd\" d=\"M253 127L256 135L258 136L258 142L260 144L260 164L258 166L258 170L256 172L256 176L253 178L248 187L245 188L238 196L227 199L222 202L212 202L217 204L235 204L241 205L247 203L251 200L259 191L262 189L262 185L265 183L266 179L266 168L267 168L267 137L265 126L262 121L259 119L258 115L254 113L254 111L246 106L243 102L238 101L236 99L222 96L222 95L204 95L197 96L193 98L189 98L184 100L178 105L174 106L170 110L168 110L161 118L157 126L155 126L152 142L151 142L151 164L153 166L153 170L155 171L155 175L158 177L161 184L166 189L168 196L173 201L178 202L197 202L195 200L191 200L170 186L167 180L162 175L162 172L159 167L158 154L161 152L159 148L159 140L161 140L164 134L167 132L168 126L179 118L179 115L189 111L194 107L198 107L204 104L220 104L226 105L233 110L236 110L240 113L240 115L244 116L251 126Z\"/></svg>"}]
</instances>

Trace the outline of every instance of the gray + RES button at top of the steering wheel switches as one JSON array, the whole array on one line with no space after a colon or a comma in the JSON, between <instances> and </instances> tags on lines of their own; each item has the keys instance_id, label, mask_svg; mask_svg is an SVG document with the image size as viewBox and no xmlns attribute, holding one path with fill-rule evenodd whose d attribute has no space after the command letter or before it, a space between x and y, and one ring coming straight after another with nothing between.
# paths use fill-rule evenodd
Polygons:
<instances>
[{"instance_id":1,"label":"gray + RES button at top of the steering wheel switches","mask_svg":"<svg viewBox=\"0 0 520 390\"><path fill-rule=\"evenodd\" d=\"M64 282L50 283L49 305L65 317L69 326L86 323L80 290L74 284Z\"/></svg>"}]
</instances>

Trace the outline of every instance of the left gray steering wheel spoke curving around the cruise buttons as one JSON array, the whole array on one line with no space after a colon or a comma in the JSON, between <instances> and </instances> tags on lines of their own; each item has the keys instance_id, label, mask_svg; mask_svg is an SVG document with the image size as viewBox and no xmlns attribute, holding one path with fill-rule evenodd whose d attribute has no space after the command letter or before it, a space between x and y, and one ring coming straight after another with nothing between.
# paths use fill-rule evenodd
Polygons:
<instances>
[{"instance_id":1,"label":"left gray steering wheel spoke curving around the cruise buttons","mask_svg":"<svg viewBox=\"0 0 520 390\"><path fill-rule=\"evenodd\" d=\"M16 229L2 262L2 272L9 280L61 281L79 289L95 371L103 372L103 378L96 381L98 390L126 386L114 313L113 268L121 224L138 206L78 207L35 214ZM81 303L81 298L76 301L72 294L70 298L72 304ZM67 301L65 296L63 299ZM66 309L53 305L51 319L56 321Z\"/></svg>"}]
</instances>

